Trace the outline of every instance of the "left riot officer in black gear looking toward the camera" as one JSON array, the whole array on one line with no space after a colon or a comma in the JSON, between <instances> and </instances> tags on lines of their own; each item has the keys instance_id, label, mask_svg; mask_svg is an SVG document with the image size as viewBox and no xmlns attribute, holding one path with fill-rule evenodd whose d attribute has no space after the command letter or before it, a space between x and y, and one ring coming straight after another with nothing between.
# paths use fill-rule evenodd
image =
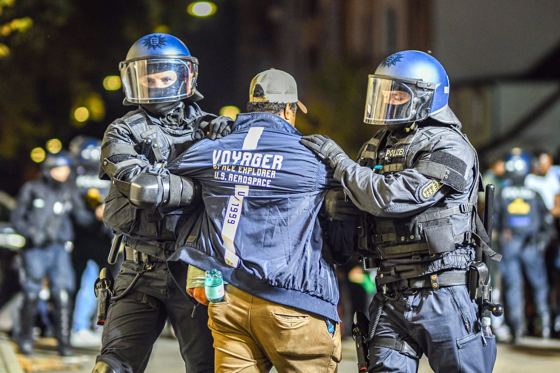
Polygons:
<instances>
[{"instance_id":1,"label":"left riot officer in black gear looking toward the camera","mask_svg":"<svg viewBox=\"0 0 560 373\"><path fill-rule=\"evenodd\" d=\"M208 314L193 313L194 304L181 292L185 284L176 285L167 271L175 237L153 209L197 199L195 183L165 166L207 132L211 139L228 134L232 121L195 103L203 97L196 89L198 60L172 35L142 37L119 68L124 104L137 108L105 131L100 178L113 183L104 221L124 235L125 261L115 278L118 300L109 307L94 372L143 372L167 317L186 371L212 372Z\"/></svg>"}]
</instances>

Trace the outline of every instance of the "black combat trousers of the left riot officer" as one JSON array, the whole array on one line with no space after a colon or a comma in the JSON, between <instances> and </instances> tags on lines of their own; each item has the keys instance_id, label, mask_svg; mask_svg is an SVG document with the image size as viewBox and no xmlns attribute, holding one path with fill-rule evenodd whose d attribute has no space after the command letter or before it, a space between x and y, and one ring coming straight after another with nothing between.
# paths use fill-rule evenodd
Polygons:
<instances>
[{"instance_id":1,"label":"black combat trousers of the left riot officer","mask_svg":"<svg viewBox=\"0 0 560 373\"><path fill-rule=\"evenodd\" d=\"M101 355L97 356L96 362L109 364L116 373L142 373L146 369L153 343L169 317L179 340L185 371L213 372L214 348L212 333L208 329L208 309L198 305L192 317L194 304L171 278L166 263L155 262L153 265L151 271L140 276L133 290L156 298L158 307L142 303L136 297L114 301L109 306L102 334ZM126 289L143 266L142 262L123 262L115 278L116 294Z\"/></svg>"}]
</instances>

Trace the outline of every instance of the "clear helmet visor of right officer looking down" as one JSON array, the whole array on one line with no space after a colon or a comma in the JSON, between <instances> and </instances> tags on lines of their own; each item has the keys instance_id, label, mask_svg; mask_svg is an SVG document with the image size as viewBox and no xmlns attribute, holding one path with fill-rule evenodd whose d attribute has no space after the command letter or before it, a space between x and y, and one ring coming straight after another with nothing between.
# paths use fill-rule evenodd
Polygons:
<instances>
[{"instance_id":1,"label":"clear helmet visor of right officer looking down","mask_svg":"<svg viewBox=\"0 0 560 373\"><path fill-rule=\"evenodd\" d=\"M432 98L432 89L370 75L363 121L387 125L423 120L429 114Z\"/></svg>"}]
</instances>

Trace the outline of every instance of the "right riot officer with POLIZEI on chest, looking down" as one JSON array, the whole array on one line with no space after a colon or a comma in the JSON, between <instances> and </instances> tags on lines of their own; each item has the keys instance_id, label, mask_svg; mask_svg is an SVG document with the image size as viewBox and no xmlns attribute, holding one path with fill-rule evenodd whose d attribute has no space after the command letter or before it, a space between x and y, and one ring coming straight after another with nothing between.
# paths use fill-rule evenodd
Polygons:
<instances>
[{"instance_id":1,"label":"right riot officer with POLIZEI on chest, looking down","mask_svg":"<svg viewBox=\"0 0 560 373\"><path fill-rule=\"evenodd\" d=\"M384 128L358 162L326 136L302 139L334 168L340 195L365 211L360 252L368 267L379 267L370 372L416 372L422 353L435 371L491 372L496 358L465 286L474 241L483 244L475 228L477 153L448 96L449 79L435 58L395 53L368 77L364 121ZM346 196L327 201L330 214L347 209Z\"/></svg>"}]
</instances>

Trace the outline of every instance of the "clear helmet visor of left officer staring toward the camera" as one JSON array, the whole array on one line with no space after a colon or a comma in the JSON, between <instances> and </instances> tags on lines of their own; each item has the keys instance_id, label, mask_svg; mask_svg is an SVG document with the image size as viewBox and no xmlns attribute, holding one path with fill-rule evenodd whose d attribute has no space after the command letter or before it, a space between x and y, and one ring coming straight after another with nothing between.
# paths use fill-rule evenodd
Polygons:
<instances>
[{"instance_id":1,"label":"clear helmet visor of left officer staring toward the camera","mask_svg":"<svg viewBox=\"0 0 560 373\"><path fill-rule=\"evenodd\" d=\"M123 64L120 77L127 100L153 103L181 100L194 93L198 65L180 58L143 59Z\"/></svg>"}]
</instances>

